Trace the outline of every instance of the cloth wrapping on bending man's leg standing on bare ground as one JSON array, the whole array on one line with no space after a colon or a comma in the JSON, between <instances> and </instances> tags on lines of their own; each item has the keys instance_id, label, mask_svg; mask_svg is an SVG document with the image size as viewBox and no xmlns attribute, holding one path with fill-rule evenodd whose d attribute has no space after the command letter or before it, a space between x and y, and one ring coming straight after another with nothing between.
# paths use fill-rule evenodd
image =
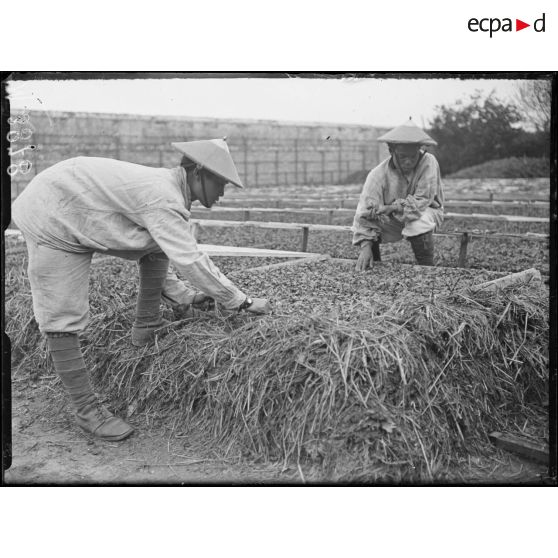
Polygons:
<instances>
[{"instance_id":1,"label":"cloth wrapping on bending man's leg standing on bare ground","mask_svg":"<svg viewBox=\"0 0 558 558\"><path fill-rule=\"evenodd\" d=\"M75 333L47 333L47 344L54 368L76 410L95 400L89 374Z\"/></svg>"}]
</instances>

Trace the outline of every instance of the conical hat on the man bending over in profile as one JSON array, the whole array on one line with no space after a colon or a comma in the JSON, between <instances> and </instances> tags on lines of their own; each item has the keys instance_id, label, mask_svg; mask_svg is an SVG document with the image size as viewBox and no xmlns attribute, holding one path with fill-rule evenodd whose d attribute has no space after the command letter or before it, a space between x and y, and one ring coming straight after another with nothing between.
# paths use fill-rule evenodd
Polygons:
<instances>
[{"instance_id":1,"label":"conical hat on the man bending over in profile","mask_svg":"<svg viewBox=\"0 0 558 558\"><path fill-rule=\"evenodd\" d=\"M182 141L173 142L172 145L194 163L201 165L223 180L231 182L239 188L244 188L225 140Z\"/></svg>"}]
</instances>

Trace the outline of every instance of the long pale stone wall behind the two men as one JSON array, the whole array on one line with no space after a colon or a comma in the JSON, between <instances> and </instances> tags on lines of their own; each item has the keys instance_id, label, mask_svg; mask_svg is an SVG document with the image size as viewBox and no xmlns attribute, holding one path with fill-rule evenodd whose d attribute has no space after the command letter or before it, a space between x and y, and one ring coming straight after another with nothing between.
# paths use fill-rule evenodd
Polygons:
<instances>
[{"instance_id":1,"label":"long pale stone wall behind the two men","mask_svg":"<svg viewBox=\"0 0 558 558\"><path fill-rule=\"evenodd\" d=\"M41 170L78 155L172 167L180 160L173 141L226 137L249 188L338 184L387 154L376 141L384 130L373 126L39 111L29 113L29 124L27 144L39 148L25 152L33 166L12 177L13 196Z\"/></svg>"}]
</instances>

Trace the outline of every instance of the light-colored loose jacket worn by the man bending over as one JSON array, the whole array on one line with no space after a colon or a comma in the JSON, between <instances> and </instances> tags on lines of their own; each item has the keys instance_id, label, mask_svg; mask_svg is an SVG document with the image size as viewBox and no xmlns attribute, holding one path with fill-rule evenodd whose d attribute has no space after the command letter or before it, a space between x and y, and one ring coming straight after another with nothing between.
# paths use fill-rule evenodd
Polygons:
<instances>
[{"instance_id":1,"label":"light-colored loose jacket worn by the man bending over","mask_svg":"<svg viewBox=\"0 0 558 558\"><path fill-rule=\"evenodd\" d=\"M246 296L198 249L188 188L181 167L76 157L38 174L12 217L26 237L57 250L163 251L191 285L235 308Z\"/></svg>"}]
</instances>

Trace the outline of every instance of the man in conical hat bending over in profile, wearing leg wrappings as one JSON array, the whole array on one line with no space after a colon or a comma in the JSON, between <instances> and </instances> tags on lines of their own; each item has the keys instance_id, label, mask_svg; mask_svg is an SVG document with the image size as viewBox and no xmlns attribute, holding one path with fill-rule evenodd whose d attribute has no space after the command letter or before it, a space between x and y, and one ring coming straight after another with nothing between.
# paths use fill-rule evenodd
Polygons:
<instances>
[{"instance_id":1,"label":"man in conical hat bending over in profile, wearing leg wrappings","mask_svg":"<svg viewBox=\"0 0 558 558\"><path fill-rule=\"evenodd\" d=\"M225 184L243 187L227 144L204 140L173 146L183 158L172 169L97 157L62 161L38 174L12 209L27 243L35 319L54 367L77 423L104 440L123 440L133 428L96 398L79 343L88 322L94 252L139 263L132 326L136 346L150 343L168 323L160 304L169 260L190 285L225 308L256 314L271 310L266 299L246 296L199 251L190 228L194 200L211 207Z\"/></svg>"}]
</instances>

